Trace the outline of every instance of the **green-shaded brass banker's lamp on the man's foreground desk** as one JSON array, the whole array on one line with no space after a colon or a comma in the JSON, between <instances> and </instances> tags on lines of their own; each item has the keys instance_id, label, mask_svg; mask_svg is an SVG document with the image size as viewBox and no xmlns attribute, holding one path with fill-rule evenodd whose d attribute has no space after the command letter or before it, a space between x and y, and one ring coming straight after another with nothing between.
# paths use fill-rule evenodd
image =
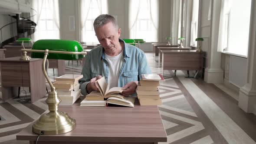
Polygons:
<instances>
[{"instance_id":1,"label":"green-shaded brass banker's lamp on the man's foreground desk","mask_svg":"<svg viewBox=\"0 0 256 144\"><path fill-rule=\"evenodd\" d=\"M21 49L21 51L21 60L30 60L25 52L32 52L32 58L43 59L43 74L51 86L51 92L48 93L48 98L46 99L49 112L44 113L34 122L32 131L36 134L43 133L44 135L55 135L72 131L76 127L75 119L69 117L65 112L58 111L58 105L61 100L46 73L45 64L46 59L76 60L83 58L86 52L83 51L82 45L76 41L70 40L41 39L34 43L32 49Z\"/></svg>"}]
</instances>

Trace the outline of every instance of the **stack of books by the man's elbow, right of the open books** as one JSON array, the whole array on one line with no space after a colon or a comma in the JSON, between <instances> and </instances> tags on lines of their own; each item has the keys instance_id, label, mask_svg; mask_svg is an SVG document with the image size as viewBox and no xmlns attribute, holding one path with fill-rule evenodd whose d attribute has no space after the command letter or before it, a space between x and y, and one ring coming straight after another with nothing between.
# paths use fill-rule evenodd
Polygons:
<instances>
[{"instance_id":1,"label":"stack of books by the man's elbow, right of the open books","mask_svg":"<svg viewBox=\"0 0 256 144\"><path fill-rule=\"evenodd\" d=\"M159 88L160 81L164 81L160 74L142 74L136 89L140 105L162 105Z\"/></svg>"}]
</instances>

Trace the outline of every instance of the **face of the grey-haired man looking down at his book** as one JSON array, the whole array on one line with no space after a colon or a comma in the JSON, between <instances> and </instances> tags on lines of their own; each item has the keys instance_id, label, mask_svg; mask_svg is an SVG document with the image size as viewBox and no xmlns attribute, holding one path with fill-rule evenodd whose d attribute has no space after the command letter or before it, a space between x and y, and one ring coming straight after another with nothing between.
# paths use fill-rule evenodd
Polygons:
<instances>
[{"instance_id":1,"label":"face of the grey-haired man looking down at his book","mask_svg":"<svg viewBox=\"0 0 256 144\"><path fill-rule=\"evenodd\" d=\"M112 22L108 22L102 27L96 28L95 34L106 52L115 52L117 46L119 46L118 38L120 37L121 29L115 28Z\"/></svg>"}]
</instances>

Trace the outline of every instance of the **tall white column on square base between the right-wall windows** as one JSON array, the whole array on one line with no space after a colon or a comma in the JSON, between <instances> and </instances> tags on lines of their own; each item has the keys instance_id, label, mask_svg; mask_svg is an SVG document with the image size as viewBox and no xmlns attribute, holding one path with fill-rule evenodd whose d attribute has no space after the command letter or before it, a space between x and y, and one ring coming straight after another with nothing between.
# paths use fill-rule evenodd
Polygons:
<instances>
[{"instance_id":1,"label":"tall white column on square base between the right-wall windows","mask_svg":"<svg viewBox=\"0 0 256 144\"><path fill-rule=\"evenodd\" d=\"M223 83L224 72L220 68L221 53L217 52L221 0L211 0L211 2L212 16L210 29L210 50L208 54L208 66L204 72L204 81L207 83Z\"/></svg>"}]
</instances>

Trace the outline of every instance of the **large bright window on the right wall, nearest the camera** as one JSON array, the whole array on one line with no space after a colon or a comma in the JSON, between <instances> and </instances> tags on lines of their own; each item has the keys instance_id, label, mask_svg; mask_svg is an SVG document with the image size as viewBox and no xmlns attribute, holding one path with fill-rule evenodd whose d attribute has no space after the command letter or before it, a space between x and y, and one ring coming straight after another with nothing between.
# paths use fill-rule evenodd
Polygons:
<instances>
[{"instance_id":1,"label":"large bright window on the right wall, nearest the camera","mask_svg":"<svg viewBox=\"0 0 256 144\"><path fill-rule=\"evenodd\" d=\"M251 0L223 0L220 12L218 52L247 57Z\"/></svg>"}]
</instances>

